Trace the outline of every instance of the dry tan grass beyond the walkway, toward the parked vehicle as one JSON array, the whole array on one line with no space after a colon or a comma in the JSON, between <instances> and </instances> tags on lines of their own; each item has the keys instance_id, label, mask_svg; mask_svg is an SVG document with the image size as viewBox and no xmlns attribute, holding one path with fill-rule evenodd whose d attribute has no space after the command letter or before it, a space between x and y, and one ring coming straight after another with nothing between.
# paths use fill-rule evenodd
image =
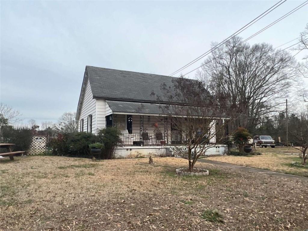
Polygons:
<instances>
[{"instance_id":1,"label":"dry tan grass beyond the walkway, toward the parked vehicle","mask_svg":"<svg viewBox=\"0 0 308 231\"><path fill-rule=\"evenodd\" d=\"M291 164L295 161L301 162L301 159L298 157L299 151L297 149L286 147L257 147L256 151L261 152L262 155L212 156L206 159L308 177L308 167L301 168Z\"/></svg>"}]
</instances>

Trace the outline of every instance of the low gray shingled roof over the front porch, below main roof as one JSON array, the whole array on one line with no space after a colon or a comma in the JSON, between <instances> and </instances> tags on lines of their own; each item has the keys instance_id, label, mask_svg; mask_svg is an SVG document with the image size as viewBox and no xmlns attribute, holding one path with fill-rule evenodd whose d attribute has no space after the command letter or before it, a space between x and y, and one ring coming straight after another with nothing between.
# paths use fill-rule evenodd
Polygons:
<instances>
[{"instance_id":1,"label":"low gray shingled roof over the front porch, below main roof","mask_svg":"<svg viewBox=\"0 0 308 231\"><path fill-rule=\"evenodd\" d=\"M164 116L161 109L161 104L158 103L139 103L129 101L114 101L106 100L112 113L114 114L129 114L129 115L160 115ZM171 108L170 108L171 109ZM165 109L164 109L165 110ZM176 114L172 111L168 111L168 115L174 115L176 117L185 117L185 114ZM211 114L211 111L209 111ZM209 115L211 116L211 115ZM229 119L225 116L217 116L219 119Z\"/></svg>"}]
</instances>

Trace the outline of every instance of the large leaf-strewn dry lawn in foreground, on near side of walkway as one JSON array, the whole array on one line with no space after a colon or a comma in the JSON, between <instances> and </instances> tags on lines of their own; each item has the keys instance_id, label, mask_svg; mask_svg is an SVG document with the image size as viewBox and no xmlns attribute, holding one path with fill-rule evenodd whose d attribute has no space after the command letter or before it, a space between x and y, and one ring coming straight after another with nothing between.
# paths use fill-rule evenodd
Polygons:
<instances>
[{"instance_id":1,"label":"large leaf-strewn dry lawn in foreground, on near side of walkway","mask_svg":"<svg viewBox=\"0 0 308 231\"><path fill-rule=\"evenodd\" d=\"M305 180L204 163L210 176L175 176L172 157L15 159L0 163L0 230L308 229Z\"/></svg>"}]
</instances>

